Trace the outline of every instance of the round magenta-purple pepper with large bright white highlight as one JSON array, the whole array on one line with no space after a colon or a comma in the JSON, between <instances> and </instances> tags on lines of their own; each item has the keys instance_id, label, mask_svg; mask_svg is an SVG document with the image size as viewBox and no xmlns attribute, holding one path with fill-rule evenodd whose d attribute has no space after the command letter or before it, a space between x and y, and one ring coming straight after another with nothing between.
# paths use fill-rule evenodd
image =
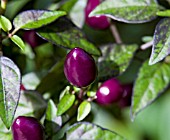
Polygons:
<instances>
[{"instance_id":1,"label":"round magenta-purple pepper with large bright white highlight","mask_svg":"<svg viewBox=\"0 0 170 140\"><path fill-rule=\"evenodd\" d=\"M109 79L105 81L97 90L96 102L106 105L117 102L123 94L123 89L120 82L115 79Z\"/></svg>"}]
</instances>

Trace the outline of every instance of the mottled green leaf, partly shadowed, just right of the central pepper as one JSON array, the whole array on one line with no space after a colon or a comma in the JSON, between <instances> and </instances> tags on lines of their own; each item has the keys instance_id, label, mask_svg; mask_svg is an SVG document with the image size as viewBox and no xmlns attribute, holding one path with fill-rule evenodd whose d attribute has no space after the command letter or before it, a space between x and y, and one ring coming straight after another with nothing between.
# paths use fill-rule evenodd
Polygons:
<instances>
[{"instance_id":1,"label":"mottled green leaf, partly shadowed, just right of the central pepper","mask_svg":"<svg viewBox=\"0 0 170 140\"><path fill-rule=\"evenodd\" d=\"M98 59L98 77L106 80L126 71L138 46L109 44L101 47L102 57Z\"/></svg>"}]
</instances>

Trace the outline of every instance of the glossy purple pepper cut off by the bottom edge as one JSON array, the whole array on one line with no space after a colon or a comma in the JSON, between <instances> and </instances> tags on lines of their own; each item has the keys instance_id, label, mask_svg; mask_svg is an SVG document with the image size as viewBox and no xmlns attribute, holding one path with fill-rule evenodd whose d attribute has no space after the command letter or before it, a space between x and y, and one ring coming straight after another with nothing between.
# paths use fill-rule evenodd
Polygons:
<instances>
[{"instance_id":1,"label":"glossy purple pepper cut off by the bottom edge","mask_svg":"<svg viewBox=\"0 0 170 140\"><path fill-rule=\"evenodd\" d=\"M45 140L42 125L33 117L19 116L12 124L13 140Z\"/></svg>"}]
</instances>

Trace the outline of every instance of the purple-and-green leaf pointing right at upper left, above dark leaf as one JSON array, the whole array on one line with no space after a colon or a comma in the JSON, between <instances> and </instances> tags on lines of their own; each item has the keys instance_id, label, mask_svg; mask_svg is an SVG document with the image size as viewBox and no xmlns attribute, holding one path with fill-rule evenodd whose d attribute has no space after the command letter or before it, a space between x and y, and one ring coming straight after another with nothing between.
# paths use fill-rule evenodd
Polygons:
<instances>
[{"instance_id":1,"label":"purple-and-green leaf pointing right at upper left, above dark leaf","mask_svg":"<svg viewBox=\"0 0 170 140\"><path fill-rule=\"evenodd\" d=\"M16 29L35 29L64 15L66 15L64 11L28 10L18 14L13 24Z\"/></svg>"}]
</instances>

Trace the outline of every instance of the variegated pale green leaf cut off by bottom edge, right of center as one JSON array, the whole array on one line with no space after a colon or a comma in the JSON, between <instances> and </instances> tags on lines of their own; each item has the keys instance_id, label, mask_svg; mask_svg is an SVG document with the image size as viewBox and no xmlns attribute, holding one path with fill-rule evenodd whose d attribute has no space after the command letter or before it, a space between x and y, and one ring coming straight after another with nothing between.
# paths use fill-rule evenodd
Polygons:
<instances>
[{"instance_id":1,"label":"variegated pale green leaf cut off by bottom edge, right of center","mask_svg":"<svg viewBox=\"0 0 170 140\"><path fill-rule=\"evenodd\" d=\"M126 140L119 134L88 122L75 123L66 132L67 140Z\"/></svg>"}]
</instances>

